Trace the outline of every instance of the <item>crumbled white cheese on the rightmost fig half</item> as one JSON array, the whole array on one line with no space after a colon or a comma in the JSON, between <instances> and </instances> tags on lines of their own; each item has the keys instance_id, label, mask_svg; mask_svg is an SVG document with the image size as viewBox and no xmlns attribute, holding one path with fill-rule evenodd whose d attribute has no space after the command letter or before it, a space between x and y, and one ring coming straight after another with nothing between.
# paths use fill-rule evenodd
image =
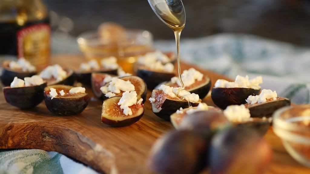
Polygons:
<instances>
[{"instance_id":1,"label":"crumbled white cheese on the rightmost fig half","mask_svg":"<svg viewBox=\"0 0 310 174\"><path fill-rule=\"evenodd\" d=\"M270 90L270 89L263 89L262 92L259 95L250 95L246 102L249 104L255 104L255 103L264 103L267 102L268 99L272 98L273 100L277 99L277 92Z\"/></svg>"}]
</instances>

